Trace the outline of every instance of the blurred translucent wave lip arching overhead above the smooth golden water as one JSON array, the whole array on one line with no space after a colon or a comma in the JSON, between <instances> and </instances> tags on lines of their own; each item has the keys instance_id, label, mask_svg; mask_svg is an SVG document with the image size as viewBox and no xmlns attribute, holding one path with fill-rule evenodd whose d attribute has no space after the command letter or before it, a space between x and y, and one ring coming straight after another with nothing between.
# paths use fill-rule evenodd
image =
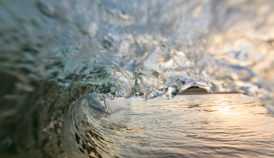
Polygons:
<instances>
[{"instance_id":1,"label":"blurred translucent wave lip arching overhead above the smooth golden water","mask_svg":"<svg viewBox=\"0 0 274 158\"><path fill-rule=\"evenodd\" d=\"M14 131L31 115L22 126L44 133L26 140L46 140L81 96L110 112L106 98L170 99L190 86L236 90L273 114L273 7L271 0L1 1L1 127Z\"/></svg>"}]
</instances>

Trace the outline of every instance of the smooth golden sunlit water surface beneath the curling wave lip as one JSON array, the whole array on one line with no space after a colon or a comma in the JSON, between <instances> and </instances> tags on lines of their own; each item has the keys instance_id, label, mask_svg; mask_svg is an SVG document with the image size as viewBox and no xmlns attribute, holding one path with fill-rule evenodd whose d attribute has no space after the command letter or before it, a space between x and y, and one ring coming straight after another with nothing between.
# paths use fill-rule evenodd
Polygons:
<instances>
[{"instance_id":1,"label":"smooth golden sunlit water surface beneath the curling wave lip","mask_svg":"<svg viewBox=\"0 0 274 158\"><path fill-rule=\"evenodd\" d=\"M65 120L68 157L274 156L273 115L240 94L120 97L110 100L112 113L85 99Z\"/></svg>"}]
</instances>

